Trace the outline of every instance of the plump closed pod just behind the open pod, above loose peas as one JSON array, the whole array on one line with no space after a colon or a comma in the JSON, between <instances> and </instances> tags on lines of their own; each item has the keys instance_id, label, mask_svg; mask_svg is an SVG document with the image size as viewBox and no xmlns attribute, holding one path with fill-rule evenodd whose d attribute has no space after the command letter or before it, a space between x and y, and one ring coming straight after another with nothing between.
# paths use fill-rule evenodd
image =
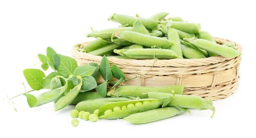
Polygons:
<instances>
[{"instance_id":1,"label":"plump closed pod just behind the open pod, above loose peas","mask_svg":"<svg viewBox=\"0 0 256 138\"><path fill-rule=\"evenodd\" d=\"M92 100L84 100L79 102L76 105L76 110L78 111L88 111L91 114L94 110L99 109L101 106L113 103L113 102L119 102L119 101L126 101L130 100L129 98L99 98L99 99L92 99Z\"/></svg>"}]
</instances>

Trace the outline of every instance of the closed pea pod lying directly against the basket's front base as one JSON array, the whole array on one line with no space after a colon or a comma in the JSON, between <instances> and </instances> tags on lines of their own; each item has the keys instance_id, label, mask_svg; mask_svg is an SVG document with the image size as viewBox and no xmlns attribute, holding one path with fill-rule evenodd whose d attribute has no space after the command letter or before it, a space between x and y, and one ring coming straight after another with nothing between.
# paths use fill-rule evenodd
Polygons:
<instances>
[{"instance_id":1,"label":"closed pea pod lying directly against the basket's front base","mask_svg":"<svg viewBox=\"0 0 256 138\"><path fill-rule=\"evenodd\" d=\"M172 93L182 94L184 85L170 85L162 87L145 87L145 86L122 86L115 90L109 91L108 96L121 96L121 97L139 97L148 98L148 92L161 92L161 93Z\"/></svg>"}]
</instances>

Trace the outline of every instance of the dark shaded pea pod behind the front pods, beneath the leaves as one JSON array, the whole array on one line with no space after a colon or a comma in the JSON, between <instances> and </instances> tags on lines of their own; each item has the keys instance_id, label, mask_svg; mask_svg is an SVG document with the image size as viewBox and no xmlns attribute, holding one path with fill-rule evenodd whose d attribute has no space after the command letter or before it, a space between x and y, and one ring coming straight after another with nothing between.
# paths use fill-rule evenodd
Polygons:
<instances>
[{"instance_id":1,"label":"dark shaded pea pod behind the front pods, beneath the leaves","mask_svg":"<svg viewBox=\"0 0 256 138\"><path fill-rule=\"evenodd\" d=\"M70 105L76 105L79 102L83 100L91 100L91 99L98 99L103 98L101 94L99 94L97 91L91 91L91 92L80 92L76 98L70 103Z\"/></svg>"}]
</instances>

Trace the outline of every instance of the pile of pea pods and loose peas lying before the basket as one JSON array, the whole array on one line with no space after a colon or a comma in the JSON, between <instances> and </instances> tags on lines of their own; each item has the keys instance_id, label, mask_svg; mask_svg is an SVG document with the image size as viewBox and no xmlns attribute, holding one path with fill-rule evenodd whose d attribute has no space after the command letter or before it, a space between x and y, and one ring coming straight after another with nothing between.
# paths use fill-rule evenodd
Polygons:
<instances>
[{"instance_id":1,"label":"pile of pea pods and loose peas lying before the basket","mask_svg":"<svg viewBox=\"0 0 256 138\"><path fill-rule=\"evenodd\" d=\"M122 86L108 92L103 98L97 92L79 93L71 104L72 118L96 122L98 119L121 119L132 124L143 124L170 118L188 109L210 109L215 113L212 100L199 96L182 95L184 85L164 87ZM87 100L88 99L88 100ZM190 112L189 112L190 114ZM77 126L79 120L73 119Z\"/></svg>"}]
</instances>

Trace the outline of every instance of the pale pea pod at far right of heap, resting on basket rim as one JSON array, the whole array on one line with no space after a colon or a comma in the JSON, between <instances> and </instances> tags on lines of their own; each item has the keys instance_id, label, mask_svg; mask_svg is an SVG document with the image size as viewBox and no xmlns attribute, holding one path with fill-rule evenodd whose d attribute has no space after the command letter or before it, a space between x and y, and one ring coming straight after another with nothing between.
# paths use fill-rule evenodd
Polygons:
<instances>
[{"instance_id":1,"label":"pale pea pod at far right of heap, resting on basket rim","mask_svg":"<svg viewBox=\"0 0 256 138\"><path fill-rule=\"evenodd\" d=\"M211 42L208 40L204 39L196 39L196 40L186 40L190 44L194 45L195 47L198 47L200 49L207 50L209 52L217 53L221 56L229 57L229 58L234 58L237 56L240 56L242 53L239 51L236 51L235 49L223 45L219 45L215 42Z\"/></svg>"}]
</instances>

